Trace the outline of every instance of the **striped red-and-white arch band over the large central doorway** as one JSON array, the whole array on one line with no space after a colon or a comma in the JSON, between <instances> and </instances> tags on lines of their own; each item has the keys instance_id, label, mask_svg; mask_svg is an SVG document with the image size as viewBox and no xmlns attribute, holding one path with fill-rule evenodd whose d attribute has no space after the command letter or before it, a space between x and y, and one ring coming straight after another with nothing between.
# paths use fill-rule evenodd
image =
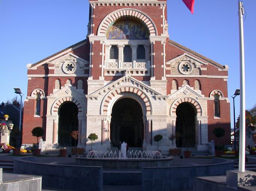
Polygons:
<instances>
[{"instance_id":1,"label":"striped red-and-white arch band over the large central doorway","mask_svg":"<svg viewBox=\"0 0 256 191\"><path fill-rule=\"evenodd\" d=\"M109 115L115 101L120 99L120 96L118 95L122 96L124 93L129 93L127 94L127 96L137 100L138 102L143 103L142 109L144 108L144 115L152 114L152 107L151 107L148 96L145 93L143 93L141 90L135 87L118 87L110 91L108 94L106 94L100 108L101 114ZM132 95L136 95L136 96L133 97Z\"/></svg>"}]
</instances>

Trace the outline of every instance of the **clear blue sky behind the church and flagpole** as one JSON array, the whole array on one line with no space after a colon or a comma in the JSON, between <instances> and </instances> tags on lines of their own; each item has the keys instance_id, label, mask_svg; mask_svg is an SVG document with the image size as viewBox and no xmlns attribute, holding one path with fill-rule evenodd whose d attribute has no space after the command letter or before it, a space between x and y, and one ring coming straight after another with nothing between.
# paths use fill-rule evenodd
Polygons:
<instances>
[{"instance_id":1,"label":"clear blue sky behind the church and flagpole","mask_svg":"<svg viewBox=\"0 0 256 191\"><path fill-rule=\"evenodd\" d=\"M246 108L255 101L256 1L244 0ZM191 15L182 0L168 0L170 39L229 65L228 91L239 88L239 38L237 0L195 0ZM0 102L11 99L13 87L27 94L27 63L35 63L85 39L89 3L87 0L0 0ZM239 97L235 99L239 115ZM233 124L233 123L232 123ZM231 126L233 126L231 124Z\"/></svg>"}]
</instances>

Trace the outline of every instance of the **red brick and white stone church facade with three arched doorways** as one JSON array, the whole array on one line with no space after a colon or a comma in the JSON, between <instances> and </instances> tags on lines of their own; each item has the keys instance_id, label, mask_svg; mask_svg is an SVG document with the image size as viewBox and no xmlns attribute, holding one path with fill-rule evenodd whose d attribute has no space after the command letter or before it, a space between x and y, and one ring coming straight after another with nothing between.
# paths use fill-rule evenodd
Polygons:
<instances>
[{"instance_id":1,"label":"red brick and white stone church facade with three arched doorways","mask_svg":"<svg viewBox=\"0 0 256 191\"><path fill-rule=\"evenodd\" d=\"M228 66L196 53L168 35L166 1L90 1L86 39L27 65L23 144L33 144L35 126L46 148L109 150L120 141L159 150L208 150L215 127L230 144ZM203 45L202 45L203 46ZM181 134L178 141L170 135Z\"/></svg>"}]
</instances>

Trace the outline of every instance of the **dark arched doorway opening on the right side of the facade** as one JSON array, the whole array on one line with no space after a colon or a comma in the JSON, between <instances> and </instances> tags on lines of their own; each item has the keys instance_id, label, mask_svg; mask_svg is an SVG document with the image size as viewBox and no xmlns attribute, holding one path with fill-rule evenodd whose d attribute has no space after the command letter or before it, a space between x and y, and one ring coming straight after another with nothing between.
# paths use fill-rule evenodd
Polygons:
<instances>
[{"instance_id":1,"label":"dark arched doorway opening on the right side of the facade","mask_svg":"<svg viewBox=\"0 0 256 191\"><path fill-rule=\"evenodd\" d=\"M176 133L181 134L176 140L177 147L195 147L196 112L189 103L181 103L176 109Z\"/></svg>"}]
</instances>

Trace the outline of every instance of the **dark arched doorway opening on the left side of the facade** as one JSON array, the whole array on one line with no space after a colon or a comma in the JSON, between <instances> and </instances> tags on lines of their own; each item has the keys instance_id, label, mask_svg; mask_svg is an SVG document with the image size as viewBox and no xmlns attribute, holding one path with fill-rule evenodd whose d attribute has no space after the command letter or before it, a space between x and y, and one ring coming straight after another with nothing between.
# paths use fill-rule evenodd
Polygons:
<instances>
[{"instance_id":1,"label":"dark arched doorway opening on the left side of the facade","mask_svg":"<svg viewBox=\"0 0 256 191\"><path fill-rule=\"evenodd\" d=\"M70 137L70 133L78 131L78 107L71 101L66 101L60 105L58 120L58 145L76 146L75 140ZM76 141L76 144L78 141Z\"/></svg>"}]
</instances>

